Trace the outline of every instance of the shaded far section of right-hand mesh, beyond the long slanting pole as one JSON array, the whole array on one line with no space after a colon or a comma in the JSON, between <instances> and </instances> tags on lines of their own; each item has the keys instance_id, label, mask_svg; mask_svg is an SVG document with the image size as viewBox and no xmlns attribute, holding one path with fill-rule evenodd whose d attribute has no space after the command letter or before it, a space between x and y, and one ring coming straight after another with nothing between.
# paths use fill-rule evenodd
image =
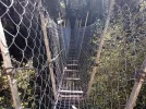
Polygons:
<instances>
[{"instance_id":1,"label":"shaded far section of right-hand mesh, beyond the long slanting pole","mask_svg":"<svg viewBox=\"0 0 146 109\"><path fill-rule=\"evenodd\" d=\"M85 34L84 34L85 31ZM78 53L78 60L80 60L80 69L81 69L81 77L84 84L84 90L87 90L87 84L89 81L89 70L90 66L94 64L95 58L94 56L97 52L97 39L99 38L99 34L101 33L101 27L99 27L99 21L86 26L86 28L78 28L77 34L77 41L76 41L76 50ZM83 36L84 34L84 36ZM81 43L83 40L83 44ZM82 45L82 48L80 49L80 46Z\"/></svg>"}]
</instances>

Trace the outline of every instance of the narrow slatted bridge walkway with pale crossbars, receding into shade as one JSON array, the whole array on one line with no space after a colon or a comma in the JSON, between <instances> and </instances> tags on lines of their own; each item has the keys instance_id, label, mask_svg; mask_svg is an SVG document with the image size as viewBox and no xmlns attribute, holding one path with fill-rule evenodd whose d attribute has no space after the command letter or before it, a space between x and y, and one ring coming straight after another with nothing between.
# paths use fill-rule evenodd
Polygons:
<instances>
[{"instance_id":1,"label":"narrow slatted bridge walkway with pale crossbars, receding into shade","mask_svg":"<svg viewBox=\"0 0 146 109\"><path fill-rule=\"evenodd\" d=\"M75 39L71 37L66 68L63 70L62 86L58 90L59 98L56 109L84 109L84 92L74 45Z\"/></svg>"}]
</instances>

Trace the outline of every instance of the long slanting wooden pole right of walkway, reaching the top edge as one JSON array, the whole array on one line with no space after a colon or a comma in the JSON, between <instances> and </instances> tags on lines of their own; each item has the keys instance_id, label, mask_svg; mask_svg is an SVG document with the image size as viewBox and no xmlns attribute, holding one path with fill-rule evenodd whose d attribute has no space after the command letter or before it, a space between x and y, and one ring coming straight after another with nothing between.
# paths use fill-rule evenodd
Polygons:
<instances>
[{"instance_id":1,"label":"long slanting wooden pole right of walkway, reaching the top edge","mask_svg":"<svg viewBox=\"0 0 146 109\"><path fill-rule=\"evenodd\" d=\"M114 0L110 0L109 12L108 12L108 15L107 15L107 20L106 20L106 24L105 24L105 28L104 28L102 35L100 37L99 48L97 50L98 52L97 52L96 61L95 61L96 64L99 64L99 61L100 61L100 55L101 55L101 50L102 50L102 47L104 47L106 33L107 33L107 29L108 29L108 26L109 26L109 21L110 21L113 3L114 3ZM88 84L87 97L89 97L89 95L90 95L96 73L97 73L97 66L94 66L93 71L92 71L92 75L90 75L90 81L89 81L89 84Z\"/></svg>"}]
</instances>

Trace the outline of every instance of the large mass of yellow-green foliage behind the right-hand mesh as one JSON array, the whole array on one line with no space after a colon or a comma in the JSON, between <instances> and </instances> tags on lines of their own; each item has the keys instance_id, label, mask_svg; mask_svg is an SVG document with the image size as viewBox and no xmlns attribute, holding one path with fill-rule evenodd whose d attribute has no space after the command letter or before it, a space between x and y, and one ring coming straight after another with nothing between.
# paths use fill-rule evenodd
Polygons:
<instances>
[{"instance_id":1,"label":"large mass of yellow-green foliage behind the right-hand mesh","mask_svg":"<svg viewBox=\"0 0 146 109\"><path fill-rule=\"evenodd\" d=\"M124 109L129 99L135 73L138 72L146 55L144 4L133 11L130 11L127 5L123 9L114 7L89 98L96 101L95 105L102 107L101 109ZM135 109L144 109L145 90L144 85Z\"/></svg>"}]
</instances>

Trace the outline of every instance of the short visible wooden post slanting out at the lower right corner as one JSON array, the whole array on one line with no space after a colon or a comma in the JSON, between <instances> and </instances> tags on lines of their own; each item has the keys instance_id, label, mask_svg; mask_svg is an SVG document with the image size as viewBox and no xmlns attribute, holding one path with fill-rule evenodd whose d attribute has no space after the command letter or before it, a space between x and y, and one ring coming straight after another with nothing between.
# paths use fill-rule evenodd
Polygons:
<instances>
[{"instance_id":1,"label":"short visible wooden post slanting out at the lower right corner","mask_svg":"<svg viewBox=\"0 0 146 109\"><path fill-rule=\"evenodd\" d=\"M141 90L141 87L145 81L145 77L146 77L146 58L141 66L139 72L136 75L135 83L134 83L131 96L130 96L127 104L125 106L125 109L133 109L134 108L134 106L136 104L137 96L139 94L139 90Z\"/></svg>"}]
</instances>

